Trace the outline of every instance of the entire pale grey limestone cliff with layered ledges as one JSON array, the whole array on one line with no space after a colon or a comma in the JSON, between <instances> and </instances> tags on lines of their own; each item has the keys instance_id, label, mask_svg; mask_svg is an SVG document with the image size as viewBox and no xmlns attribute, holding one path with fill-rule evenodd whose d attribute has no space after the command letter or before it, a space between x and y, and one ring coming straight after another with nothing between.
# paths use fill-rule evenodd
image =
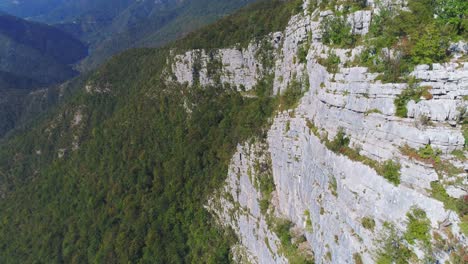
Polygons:
<instances>
[{"instance_id":1,"label":"entire pale grey limestone cliff with layered ledges","mask_svg":"<svg viewBox=\"0 0 468 264\"><path fill-rule=\"evenodd\" d=\"M348 15L354 34L365 35L379 12L373 3L368 9ZM297 106L278 112L266 138L238 147L225 187L207 207L238 235L240 262L288 263L301 256L316 263L373 263L388 250L388 239L395 244L408 234L415 210L429 223L430 255L448 261L468 242L462 219L434 190L442 186L457 199L467 195L467 161L453 153L464 151L458 121L468 108L468 63L454 57L417 66L410 76L429 95L408 100L407 117L398 117L395 100L410 84L382 83L378 73L350 66L362 47L324 45L320 24L331 15L304 11L284 32L244 49L175 55L171 68L180 83L221 81L249 95L259 80L273 76L274 93L294 83L305 91ZM461 55L468 51L464 43L455 46ZM300 59L304 47L307 56ZM330 54L340 61L334 72L319 63ZM213 72L213 63L222 70ZM333 139L343 133L347 152L333 151ZM437 162L415 154L424 148L438 153ZM379 169L389 161L399 164L398 183ZM287 241L278 230L285 225ZM402 243L414 254L411 262L429 254L427 245Z\"/></svg>"}]
</instances>

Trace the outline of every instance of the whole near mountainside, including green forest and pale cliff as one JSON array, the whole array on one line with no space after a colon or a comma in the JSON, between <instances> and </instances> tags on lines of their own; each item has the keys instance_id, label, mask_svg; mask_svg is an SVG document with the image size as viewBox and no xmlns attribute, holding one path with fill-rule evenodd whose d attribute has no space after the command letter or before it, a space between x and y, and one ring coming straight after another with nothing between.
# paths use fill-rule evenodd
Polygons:
<instances>
[{"instance_id":1,"label":"whole near mountainside, including green forest and pale cliff","mask_svg":"<svg viewBox=\"0 0 468 264\"><path fill-rule=\"evenodd\" d=\"M0 259L463 263L466 18L431 3L265 1L116 56L0 141Z\"/></svg>"}]
</instances>

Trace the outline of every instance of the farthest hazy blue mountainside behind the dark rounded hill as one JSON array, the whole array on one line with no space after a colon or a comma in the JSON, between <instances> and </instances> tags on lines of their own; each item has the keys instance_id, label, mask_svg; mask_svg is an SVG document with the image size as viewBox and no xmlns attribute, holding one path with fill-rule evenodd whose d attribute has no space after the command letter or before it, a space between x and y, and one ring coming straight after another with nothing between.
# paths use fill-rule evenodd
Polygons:
<instances>
[{"instance_id":1,"label":"farthest hazy blue mountainside behind the dark rounded hill","mask_svg":"<svg viewBox=\"0 0 468 264\"><path fill-rule=\"evenodd\" d=\"M0 0L0 10L73 34L90 46L81 70L133 47L174 40L253 0Z\"/></svg>"}]
</instances>

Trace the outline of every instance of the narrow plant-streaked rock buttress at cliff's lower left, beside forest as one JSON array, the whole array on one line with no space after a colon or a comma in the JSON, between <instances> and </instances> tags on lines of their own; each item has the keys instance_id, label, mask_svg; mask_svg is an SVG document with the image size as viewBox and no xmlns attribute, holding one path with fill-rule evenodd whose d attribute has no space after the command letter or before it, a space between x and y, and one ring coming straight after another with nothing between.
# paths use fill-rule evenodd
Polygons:
<instances>
[{"instance_id":1,"label":"narrow plant-streaked rock buttress at cliff's lower left, beside forest","mask_svg":"<svg viewBox=\"0 0 468 264\"><path fill-rule=\"evenodd\" d=\"M254 187L259 177L256 161L270 158L268 145L239 146L229 166L224 190L212 200L211 208L221 223L236 230L239 240L256 263L287 263L279 253L280 242L260 211L262 194Z\"/></svg>"}]
</instances>

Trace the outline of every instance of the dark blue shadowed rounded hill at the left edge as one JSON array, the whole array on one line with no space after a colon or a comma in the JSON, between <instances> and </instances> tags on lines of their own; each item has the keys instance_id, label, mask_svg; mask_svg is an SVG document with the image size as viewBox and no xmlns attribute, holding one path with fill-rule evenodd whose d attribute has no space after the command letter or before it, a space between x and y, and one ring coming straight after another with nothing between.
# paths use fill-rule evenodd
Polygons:
<instances>
[{"instance_id":1,"label":"dark blue shadowed rounded hill at the left edge","mask_svg":"<svg viewBox=\"0 0 468 264\"><path fill-rule=\"evenodd\" d=\"M27 115L32 91L76 76L87 54L68 33L0 13L0 138Z\"/></svg>"}]
</instances>

